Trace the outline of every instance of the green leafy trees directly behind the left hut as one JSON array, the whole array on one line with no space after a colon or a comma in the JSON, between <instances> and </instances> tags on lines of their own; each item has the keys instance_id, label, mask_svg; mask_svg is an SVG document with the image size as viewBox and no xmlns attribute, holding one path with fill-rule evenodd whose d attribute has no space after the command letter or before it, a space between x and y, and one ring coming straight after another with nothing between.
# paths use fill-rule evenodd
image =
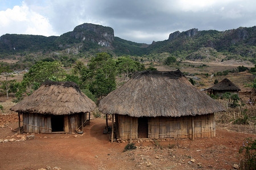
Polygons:
<instances>
[{"instance_id":1,"label":"green leafy trees directly behind the left hut","mask_svg":"<svg viewBox=\"0 0 256 170\"><path fill-rule=\"evenodd\" d=\"M155 70L154 67L150 69ZM128 56L115 59L110 54L102 52L92 57L87 65L76 61L69 71L63 68L63 63L60 61L36 62L28 73L23 75L22 82L8 80L12 71L8 66L1 67L1 74L6 77L6 80L0 82L0 88L7 96L13 93L17 100L20 100L25 94L30 95L38 89L46 80L71 81L75 82L85 95L96 101L99 97L106 96L115 90L116 78L126 82L135 71L142 70L146 70L144 65Z\"/></svg>"}]
</instances>

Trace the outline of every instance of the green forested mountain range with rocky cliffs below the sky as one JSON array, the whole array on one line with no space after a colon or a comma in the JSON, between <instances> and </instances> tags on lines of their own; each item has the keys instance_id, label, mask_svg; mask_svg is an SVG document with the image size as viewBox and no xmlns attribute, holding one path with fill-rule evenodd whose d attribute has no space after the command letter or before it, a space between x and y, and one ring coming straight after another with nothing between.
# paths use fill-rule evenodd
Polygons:
<instances>
[{"instance_id":1,"label":"green forested mountain range with rocky cliffs below the sky","mask_svg":"<svg viewBox=\"0 0 256 170\"><path fill-rule=\"evenodd\" d=\"M143 44L114 36L114 30L84 23L61 36L10 35L0 37L0 59L18 59L15 69L25 69L46 58L72 65L76 59L90 58L98 52L114 57L133 56L137 61L250 61L256 63L256 26L228 31L188 31L171 33L164 41Z\"/></svg>"}]
</instances>

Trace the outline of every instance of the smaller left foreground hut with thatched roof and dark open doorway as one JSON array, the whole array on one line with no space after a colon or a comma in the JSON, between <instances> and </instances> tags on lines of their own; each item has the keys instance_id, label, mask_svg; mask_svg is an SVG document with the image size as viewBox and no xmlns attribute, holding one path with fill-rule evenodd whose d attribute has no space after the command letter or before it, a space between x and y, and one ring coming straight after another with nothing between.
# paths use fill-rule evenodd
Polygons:
<instances>
[{"instance_id":1,"label":"smaller left foreground hut with thatched roof and dark open doorway","mask_svg":"<svg viewBox=\"0 0 256 170\"><path fill-rule=\"evenodd\" d=\"M25 132L71 133L82 130L90 119L87 113L95 108L76 83L46 81L11 110L23 114Z\"/></svg>"}]
</instances>

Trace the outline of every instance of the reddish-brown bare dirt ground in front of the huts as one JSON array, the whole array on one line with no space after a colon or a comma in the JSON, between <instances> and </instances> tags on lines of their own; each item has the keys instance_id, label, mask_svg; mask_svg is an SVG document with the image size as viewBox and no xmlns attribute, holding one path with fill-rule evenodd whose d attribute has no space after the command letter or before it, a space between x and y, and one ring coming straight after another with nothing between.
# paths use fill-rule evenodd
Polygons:
<instances>
[{"instance_id":1,"label":"reddish-brown bare dirt ground in front of the huts","mask_svg":"<svg viewBox=\"0 0 256 170\"><path fill-rule=\"evenodd\" d=\"M18 130L17 123L9 127ZM0 139L20 139L9 127L0 128ZM123 152L127 143L110 143L104 128L105 120L96 118L84 134L35 134L35 139L0 143L0 169L233 169L245 138L256 138L217 128L215 138L135 142L136 150Z\"/></svg>"}]
</instances>

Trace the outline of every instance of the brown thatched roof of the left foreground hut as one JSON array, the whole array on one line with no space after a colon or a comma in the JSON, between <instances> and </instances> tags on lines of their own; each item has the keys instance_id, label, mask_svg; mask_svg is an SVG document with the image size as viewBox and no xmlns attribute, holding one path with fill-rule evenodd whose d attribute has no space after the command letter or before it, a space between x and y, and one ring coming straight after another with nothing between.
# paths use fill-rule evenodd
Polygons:
<instances>
[{"instance_id":1,"label":"brown thatched roof of the left foreground hut","mask_svg":"<svg viewBox=\"0 0 256 170\"><path fill-rule=\"evenodd\" d=\"M46 81L11 110L41 114L73 114L90 112L96 104L82 94L76 83Z\"/></svg>"}]
</instances>

